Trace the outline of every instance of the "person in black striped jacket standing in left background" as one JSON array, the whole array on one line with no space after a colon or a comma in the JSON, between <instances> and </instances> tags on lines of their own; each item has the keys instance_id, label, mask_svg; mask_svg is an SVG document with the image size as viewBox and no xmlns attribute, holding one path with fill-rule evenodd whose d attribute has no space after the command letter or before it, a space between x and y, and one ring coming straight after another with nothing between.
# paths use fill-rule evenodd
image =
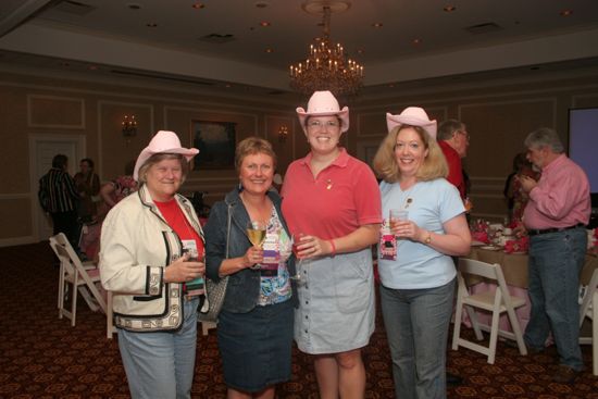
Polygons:
<instances>
[{"instance_id":1,"label":"person in black striped jacket standing in left background","mask_svg":"<svg viewBox=\"0 0 598 399\"><path fill-rule=\"evenodd\" d=\"M45 212L52 217L54 235L64 233L78 252L79 224L77 222L77 202L79 195L75 180L67 172L68 158L57 154L52 167L39 179L38 198Z\"/></svg>"}]
</instances>

